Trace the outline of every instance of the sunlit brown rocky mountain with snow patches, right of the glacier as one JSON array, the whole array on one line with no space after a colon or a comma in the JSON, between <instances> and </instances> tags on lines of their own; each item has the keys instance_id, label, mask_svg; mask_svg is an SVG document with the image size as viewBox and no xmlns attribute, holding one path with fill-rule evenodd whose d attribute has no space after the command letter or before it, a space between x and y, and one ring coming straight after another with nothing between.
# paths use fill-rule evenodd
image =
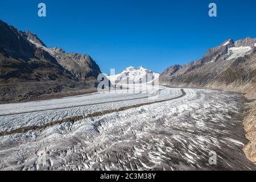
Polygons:
<instances>
[{"instance_id":1,"label":"sunlit brown rocky mountain with snow patches, right of the glacier","mask_svg":"<svg viewBox=\"0 0 256 182\"><path fill-rule=\"evenodd\" d=\"M256 97L256 39L226 40L185 65L172 65L160 83L174 87L211 88L247 93Z\"/></svg>"}]
</instances>

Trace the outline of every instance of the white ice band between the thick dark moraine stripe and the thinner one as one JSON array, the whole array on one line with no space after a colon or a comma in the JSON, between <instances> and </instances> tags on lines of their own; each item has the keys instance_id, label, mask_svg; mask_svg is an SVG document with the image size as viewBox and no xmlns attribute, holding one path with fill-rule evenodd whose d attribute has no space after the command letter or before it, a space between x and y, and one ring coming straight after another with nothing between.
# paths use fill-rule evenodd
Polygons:
<instances>
[{"instance_id":1,"label":"white ice band between the thick dark moraine stripe and the thinner one","mask_svg":"<svg viewBox=\"0 0 256 182\"><path fill-rule=\"evenodd\" d=\"M170 92L172 93L172 95L168 96ZM180 89L166 88L164 90L160 90L158 99L168 100L170 98L180 96L181 95L180 93L181 93ZM28 127L31 125L32 126L45 125L46 123L59 121L60 119L76 117L77 115L86 115L90 113L95 113L97 111L118 109L120 107L148 103L148 102L154 102L154 100L148 100L148 98L143 98L139 100L120 101L120 102L112 102L108 104L73 107L69 109L38 111L37 113L8 115L5 117L0 117L0 120L2 121L0 123L0 126L1 126L0 132L12 131L20 127Z\"/></svg>"}]
</instances>

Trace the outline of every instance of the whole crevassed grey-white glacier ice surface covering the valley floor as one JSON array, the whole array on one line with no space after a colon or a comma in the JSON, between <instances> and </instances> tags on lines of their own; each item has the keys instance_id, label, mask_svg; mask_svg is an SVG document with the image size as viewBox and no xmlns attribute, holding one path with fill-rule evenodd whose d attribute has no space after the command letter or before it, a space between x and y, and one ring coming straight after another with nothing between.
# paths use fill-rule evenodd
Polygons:
<instances>
[{"instance_id":1,"label":"whole crevassed grey-white glacier ice surface covering the valley floor","mask_svg":"<svg viewBox=\"0 0 256 182\"><path fill-rule=\"evenodd\" d=\"M155 100L176 99L0 137L0 169L255 170L242 152L247 143L240 117L242 96L184 90L186 95L176 98L180 89L160 87ZM147 93L104 92L0 105L1 131L150 102L144 96ZM99 104L104 98L106 103ZM24 111L31 113L20 113ZM209 165L210 151L217 153L217 165Z\"/></svg>"}]
</instances>

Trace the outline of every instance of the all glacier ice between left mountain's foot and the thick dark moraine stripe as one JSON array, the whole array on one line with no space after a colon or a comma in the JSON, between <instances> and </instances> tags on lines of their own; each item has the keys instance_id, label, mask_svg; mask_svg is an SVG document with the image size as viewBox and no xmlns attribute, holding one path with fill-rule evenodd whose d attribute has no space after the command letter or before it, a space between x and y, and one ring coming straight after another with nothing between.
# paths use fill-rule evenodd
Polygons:
<instances>
[{"instance_id":1,"label":"all glacier ice between left mountain's foot and the thick dark moraine stripe","mask_svg":"<svg viewBox=\"0 0 256 182\"><path fill-rule=\"evenodd\" d=\"M162 87L159 88L156 98L154 95L146 94L143 89L141 93L126 93L126 90L124 93L122 92L124 91L117 90L61 99L0 105L0 119L2 120L0 132L15 130L19 127L40 126L96 111L166 100L182 94L180 89L163 89Z\"/></svg>"}]
</instances>

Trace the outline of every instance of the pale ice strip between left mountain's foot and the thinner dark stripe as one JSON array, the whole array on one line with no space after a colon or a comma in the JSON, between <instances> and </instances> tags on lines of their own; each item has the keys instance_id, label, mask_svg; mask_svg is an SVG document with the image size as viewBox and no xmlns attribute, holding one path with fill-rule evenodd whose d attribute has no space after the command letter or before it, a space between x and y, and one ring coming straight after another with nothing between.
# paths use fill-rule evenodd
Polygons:
<instances>
[{"instance_id":1,"label":"pale ice strip between left mountain's foot and the thinner dark stripe","mask_svg":"<svg viewBox=\"0 0 256 182\"><path fill-rule=\"evenodd\" d=\"M119 96L119 94L122 94ZM172 97L177 96L179 91L176 94L172 94ZM148 94L144 93L136 93L136 94L123 94L123 93L99 93L96 96L96 100L94 96L81 96L81 97L67 97L61 98L59 100L46 100L46 101L36 101L36 102L24 102L20 104L4 104L0 105L0 117L14 114L26 114L26 113L34 113L39 111L48 111L48 110L59 110L59 109L68 109L72 107L81 107L81 106L89 106L89 105L97 105L97 104L106 104L109 102L121 102L121 101L130 101L130 100L140 100L147 98L153 98L155 96L148 96ZM162 94L162 90L159 90L159 98L165 97ZM89 101L88 101L89 100ZM78 104L73 103L79 102ZM39 105L40 104L40 105Z\"/></svg>"}]
</instances>

